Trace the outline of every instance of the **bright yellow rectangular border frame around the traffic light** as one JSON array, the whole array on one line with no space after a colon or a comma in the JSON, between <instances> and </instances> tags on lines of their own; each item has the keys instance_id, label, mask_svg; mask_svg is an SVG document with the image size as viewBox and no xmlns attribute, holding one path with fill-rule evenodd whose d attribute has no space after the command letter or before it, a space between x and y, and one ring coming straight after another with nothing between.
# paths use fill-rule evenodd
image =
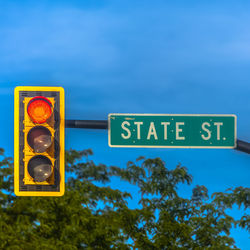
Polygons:
<instances>
[{"instance_id":1,"label":"bright yellow rectangular border frame around the traffic light","mask_svg":"<svg viewBox=\"0 0 250 250\"><path fill-rule=\"evenodd\" d=\"M19 92L20 91L57 91L60 93L60 191L59 192L49 192L49 191L20 191L19 190L19 167L20 167L20 161L24 160L26 162L25 169L26 171L26 165L28 159L19 159ZM26 97L27 99L27 97ZM50 98L49 98L50 99ZM53 99L53 98L52 98ZM52 100L53 101L53 100ZM64 98L64 89L62 87L33 87L33 86L19 86L15 88L15 104L14 104L14 192L17 196L62 196L65 191L65 163L64 163L64 140L65 140L65 98ZM25 115L25 112L24 112ZM33 123L32 123L33 124ZM34 124L33 124L34 125ZM46 125L45 125L46 126ZM50 130L51 131L51 130ZM27 131L26 131L27 132ZM54 131L51 131L52 135L54 134ZM26 136L24 131L24 137L26 142ZM28 144L27 144L28 145ZM25 146L24 146L25 148ZM26 147L27 148L27 147ZM28 152L27 152L28 153ZM32 154L29 154L30 157L32 157ZM32 156L31 156L32 155ZM44 154L46 155L46 153ZM46 155L54 165L53 159ZM29 157L28 157L29 158ZM25 175L27 177L27 175ZM28 181L29 182L29 181ZM26 183L25 183L26 184ZM32 183L30 183L32 184ZM36 184L33 182L33 184ZM48 183L39 183L39 185L48 185Z\"/></svg>"}]
</instances>

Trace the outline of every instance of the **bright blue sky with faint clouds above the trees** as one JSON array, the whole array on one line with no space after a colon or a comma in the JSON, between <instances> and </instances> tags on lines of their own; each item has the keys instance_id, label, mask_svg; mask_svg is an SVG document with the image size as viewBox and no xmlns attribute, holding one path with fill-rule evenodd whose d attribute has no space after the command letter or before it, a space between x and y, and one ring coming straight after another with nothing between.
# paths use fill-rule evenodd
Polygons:
<instances>
[{"instance_id":1,"label":"bright blue sky with faint clouds above the trees","mask_svg":"<svg viewBox=\"0 0 250 250\"><path fill-rule=\"evenodd\" d=\"M247 1L0 0L0 147L13 156L19 85L64 87L67 119L236 114L238 138L249 142L249 11ZM106 131L75 129L66 148L92 148L110 165L140 155L180 162L210 194L249 186L250 157L234 150L109 148ZM233 236L250 245L247 233Z\"/></svg>"}]
</instances>

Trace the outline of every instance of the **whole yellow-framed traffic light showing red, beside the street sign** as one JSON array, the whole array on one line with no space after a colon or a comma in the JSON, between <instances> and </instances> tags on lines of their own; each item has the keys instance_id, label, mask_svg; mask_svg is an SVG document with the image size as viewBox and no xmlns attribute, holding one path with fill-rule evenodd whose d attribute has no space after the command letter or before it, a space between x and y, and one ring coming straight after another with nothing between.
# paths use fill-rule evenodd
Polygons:
<instances>
[{"instance_id":1,"label":"whole yellow-framed traffic light showing red, beside the street sign","mask_svg":"<svg viewBox=\"0 0 250 250\"><path fill-rule=\"evenodd\" d=\"M64 89L16 87L14 191L17 196L64 194Z\"/></svg>"}]
</instances>

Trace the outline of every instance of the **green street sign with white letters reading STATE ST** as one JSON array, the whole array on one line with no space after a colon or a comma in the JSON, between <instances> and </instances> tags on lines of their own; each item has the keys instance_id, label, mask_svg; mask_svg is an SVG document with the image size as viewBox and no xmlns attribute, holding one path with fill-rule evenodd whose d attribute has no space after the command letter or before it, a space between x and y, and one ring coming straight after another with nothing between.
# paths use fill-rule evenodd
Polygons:
<instances>
[{"instance_id":1,"label":"green street sign with white letters reading STATE ST","mask_svg":"<svg viewBox=\"0 0 250 250\"><path fill-rule=\"evenodd\" d=\"M110 147L235 148L235 115L109 114Z\"/></svg>"}]
</instances>

